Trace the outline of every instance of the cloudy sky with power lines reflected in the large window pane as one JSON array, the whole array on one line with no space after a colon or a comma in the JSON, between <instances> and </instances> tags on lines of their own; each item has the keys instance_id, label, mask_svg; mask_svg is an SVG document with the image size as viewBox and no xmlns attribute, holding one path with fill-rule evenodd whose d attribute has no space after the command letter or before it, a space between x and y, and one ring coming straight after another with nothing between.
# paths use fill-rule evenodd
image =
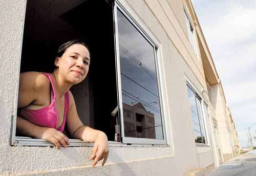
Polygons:
<instances>
[{"instance_id":1,"label":"cloudy sky with power lines reflected in the large window pane","mask_svg":"<svg viewBox=\"0 0 256 176\"><path fill-rule=\"evenodd\" d=\"M156 139L163 139L154 47L119 10L117 17L123 103L154 114Z\"/></svg>"}]
</instances>

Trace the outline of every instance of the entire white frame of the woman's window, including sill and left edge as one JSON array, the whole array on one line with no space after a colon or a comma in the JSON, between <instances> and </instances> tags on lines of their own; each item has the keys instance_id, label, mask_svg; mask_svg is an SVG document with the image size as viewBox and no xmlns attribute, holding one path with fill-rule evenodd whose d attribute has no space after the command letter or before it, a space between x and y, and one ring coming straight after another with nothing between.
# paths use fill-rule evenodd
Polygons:
<instances>
[{"instance_id":1,"label":"entire white frame of the woman's window, including sill and left edge","mask_svg":"<svg viewBox=\"0 0 256 176\"><path fill-rule=\"evenodd\" d=\"M136 29L147 39L148 42L151 43L154 47L155 51L155 63L156 63L156 72L157 72L157 82L158 82L158 91L159 91L159 103L160 103L160 112L161 112L161 120L162 120L162 130L163 130L163 140L157 140L157 139L145 139L145 138L130 138L130 137L124 137L124 123L123 123L123 115L122 115L122 106L119 106L122 104L122 96L121 96L121 84L120 84L120 61L119 61L119 45L118 45L118 28L117 28L117 8L125 15L126 18L129 19L129 21L136 27ZM117 71L117 86L118 86L118 106L119 106L119 116L121 117L119 120L121 121L121 136L123 142L114 142L114 141L108 141L109 146L169 146L167 144L167 136L166 136L166 126L165 126L165 118L164 118L164 111L163 111L163 91L161 89L161 76L159 75L159 51L158 51L158 45L156 44L152 37L150 37L141 27L140 25L135 21L135 19L123 8L123 6L117 1L114 1L113 6L113 14L114 14L114 40L115 40L115 51L116 51L116 71ZM24 20L25 23L25 20ZM24 34L24 33L23 33ZM21 51L20 51L21 52ZM19 61L20 65L20 61ZM18 73L20 72L20 67L18 68ZM19 86L19 74L18 74L18 82L16 87L16 104L18 102L18 86ZM10 135L10 145L12 146L54 146L51 142L44 140L44 139L34 139L31 137L19 137L16 136L16 117L17 117L17 111L15 111L14 116L12 116L12 124L11 124L11 135ZM93 146L93 143L85 142L79 139L70 139L70 145L71 147L76 146Z\"/></svg>"}]
</instances>

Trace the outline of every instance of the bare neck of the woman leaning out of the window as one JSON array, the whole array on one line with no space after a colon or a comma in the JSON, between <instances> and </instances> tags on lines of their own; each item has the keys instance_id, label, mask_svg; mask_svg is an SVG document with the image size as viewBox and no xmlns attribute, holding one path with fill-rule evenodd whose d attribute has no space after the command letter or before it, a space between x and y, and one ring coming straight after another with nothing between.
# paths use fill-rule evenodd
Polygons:
<instances>
[{"instance_id":1,"label":"bare neck of the woman leaning out of the window","mask_svg":"<svg viewBox=\"0 0 256 176\"><path fill-rule=\"evenodd\" d=\"M64 96L69 91L72 84L63 80L63 78L59 75L58 69L55 69L52 75L53 75L56 96L57 97Z\"/></svg>"}]
</instances>

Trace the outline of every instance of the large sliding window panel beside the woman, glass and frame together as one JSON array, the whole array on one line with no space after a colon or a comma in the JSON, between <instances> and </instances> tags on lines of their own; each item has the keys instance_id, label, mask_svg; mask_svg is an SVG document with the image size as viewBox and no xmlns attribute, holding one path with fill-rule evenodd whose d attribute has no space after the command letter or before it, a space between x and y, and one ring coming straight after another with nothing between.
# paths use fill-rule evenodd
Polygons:
<instances>
[{"instance_id":1,"label":"large sliding window panel beside the woman, glass and frame together","mask_svg":"<svg viewBox=\"0 0 256 176\"><path fill-rule=\"evenodd\" d=\"M122 140L131 144L166 144L158 47L121 6L115 7Z\"/></svg>"}]
</instances>

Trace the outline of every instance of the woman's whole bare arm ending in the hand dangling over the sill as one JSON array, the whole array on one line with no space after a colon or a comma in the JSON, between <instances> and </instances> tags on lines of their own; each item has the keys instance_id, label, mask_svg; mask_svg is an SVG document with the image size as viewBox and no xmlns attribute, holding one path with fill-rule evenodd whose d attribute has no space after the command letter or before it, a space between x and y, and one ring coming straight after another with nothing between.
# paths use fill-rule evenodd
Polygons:
<instances>
[{"instance_id":1,"label":"woman's whole bare arm ending in the hand dangling over the sill","mask_svg":"<svg viewBox=\"0 0 256 176\"><path fill-rule=\"evenodd\" d=\"M75 139L81 139L83 141L94 143L90 160L94 160L93 166L95 166L98 161L104 159L102 162L103 166L109 157L108 138L102 131L84 126L82 124L76 111L74 97L71 92L69 92L69 95L70 107L67 118L69 133Z\"/></svg>"}]
</instances>

